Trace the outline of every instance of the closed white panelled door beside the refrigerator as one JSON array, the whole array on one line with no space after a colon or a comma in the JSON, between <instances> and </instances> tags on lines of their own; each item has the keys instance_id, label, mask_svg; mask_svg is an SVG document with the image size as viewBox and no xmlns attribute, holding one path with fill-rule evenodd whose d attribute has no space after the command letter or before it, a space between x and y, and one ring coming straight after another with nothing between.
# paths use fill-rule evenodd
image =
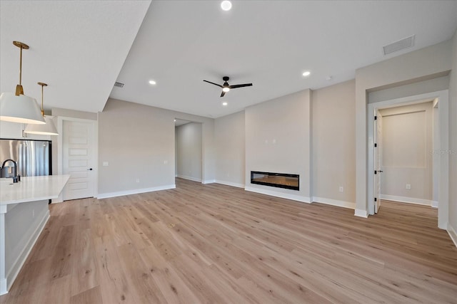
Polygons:
<instances>
[{"instance_id":1,"label":"closed white panelled door beside the refrigerator","mask_svg":"<svg viewBox=\"0 0 457 304\"><path fill-rule=\"evenodd\" d=\"M64 188L64 200L95 196L94 132L95 122L63 122L62 171L70 174Z\"/></svg>"}]
</instances>

